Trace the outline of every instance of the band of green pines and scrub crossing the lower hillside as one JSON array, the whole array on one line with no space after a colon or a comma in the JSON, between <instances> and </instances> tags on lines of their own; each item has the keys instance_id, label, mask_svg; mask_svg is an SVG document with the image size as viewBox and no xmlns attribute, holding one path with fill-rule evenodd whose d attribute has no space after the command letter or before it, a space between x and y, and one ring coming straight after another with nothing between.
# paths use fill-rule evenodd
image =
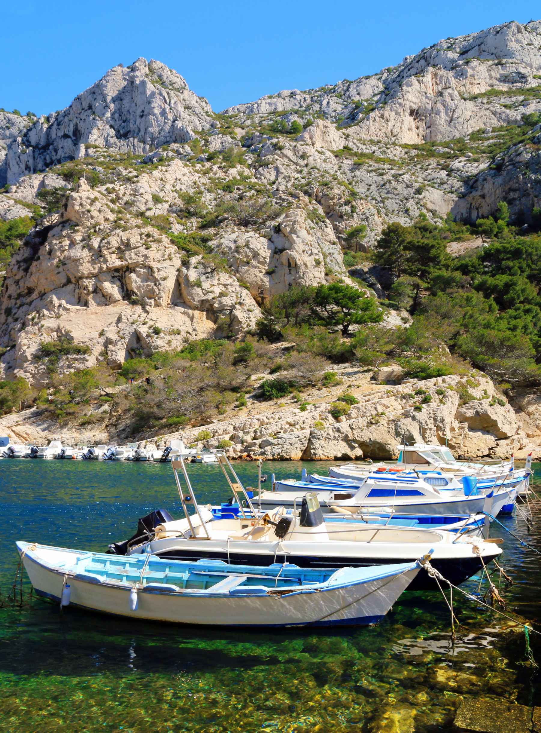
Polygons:
<instances>
[{"instance_id":1,"label":"band of green pines and scrub crossing the lower hillside","mask_svg":"<svg viewBox=\"0 0 541 733\"><path fill-rule=\"evenodd\" d=\"M537 211L534 228L541 229ZM474 235L485 246L449 257L449 241ZM266 303L256 331L240 341L204 339L176 353L141 353L119 371L100 364L69 374L59 374L59 360L85 347L67 339L45 343L40 358L48 388L4 380L0 412L38 404L81 426L120 416L133 435L164 432L241 409L250 394L261 400L296 394L302 408L302 390L331 386L332 365L346 361L399 364L417 379L473 365L507 391L541 385L541 233L510 226L507 205L475 226L450 218L441 226L426 218L389 224L370 258L387 273L387 300L340 281L291 287ZM411 320L389 328L383 323L389 308ZM287 347L277 351L277 342ZM254 381L254 375L267 376ZM346 414L348 401L332 410Z\"/></svg>"}]
</instances>

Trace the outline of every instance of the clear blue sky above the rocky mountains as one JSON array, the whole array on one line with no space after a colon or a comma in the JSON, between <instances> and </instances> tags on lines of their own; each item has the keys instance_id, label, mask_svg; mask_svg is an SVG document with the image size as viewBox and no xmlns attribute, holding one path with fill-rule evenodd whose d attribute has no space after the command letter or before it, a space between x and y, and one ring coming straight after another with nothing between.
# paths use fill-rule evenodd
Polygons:
<instances>
[{"instance_id":1,"label":"clear blue sky above the rocky mountains","mask_svg":"<svg viewBox=\"0 0 541 733\"><path fill-rule=\"evenodd\" d=\"M158 59L214 111L395 65L447 36L541 18L538 1L7 0L0 107L46 114L116 64Z\"/></svg>"}]
</instances>

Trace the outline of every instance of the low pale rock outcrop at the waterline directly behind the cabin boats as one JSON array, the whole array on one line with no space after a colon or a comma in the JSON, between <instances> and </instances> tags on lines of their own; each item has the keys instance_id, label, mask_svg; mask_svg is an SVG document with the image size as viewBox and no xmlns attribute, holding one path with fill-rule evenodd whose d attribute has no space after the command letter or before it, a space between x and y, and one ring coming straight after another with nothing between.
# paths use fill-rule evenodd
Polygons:
<instances>
[{"instance_id":1,"label":"low pale rock outcrop at the waterline directly behind the cabin boats","mask_svg":"<svg viewBox=\"0 0 541 733\"><path fill-rule=\"evenodd\" d=\"M344 371L348 372L348 380L356 380L351 367ZM206 425L212 438L204 441L204 446L212 448L225 439L234 443L228 449L232 457L269 460L391 459L397 457L396 446L403 441L447 444L455 454L464 457L509 458L512 452L524 457L529 450L540 456L539 439L531 441L526 437L512 408L506 404L493 409L489 405L494 396L490 380L480 372L476 372L474 380L477 386L469 387L471 394L482 399L460 407L457 388L463 380L455 375L398 386L365 382L352 390L359 404L353 405L339 421L329 414L329 405L343 392L343 387L327 389L324 397L318 391L307 394L313 402L305 411L291 403L280 410L272 403L254 405L249 415ZM432 398L420 411L414 410L419 398L412 394L419 387ZM444 394L439 394L442 388ZM485 391L489 397L484 396ZM489 417L480 420L480 415ZM194 443L200 430L190 428L168 437L182 437L184 442Z\"/></svg>"}]
</instances>

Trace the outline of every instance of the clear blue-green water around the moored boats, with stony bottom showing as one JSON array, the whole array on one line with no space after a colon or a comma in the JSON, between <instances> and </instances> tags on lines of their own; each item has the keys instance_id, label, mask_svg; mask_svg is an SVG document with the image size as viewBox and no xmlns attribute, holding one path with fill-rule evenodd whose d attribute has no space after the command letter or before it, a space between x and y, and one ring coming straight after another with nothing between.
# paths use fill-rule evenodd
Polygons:
<instances>
[{"instance_id":1,"label":"clear blue-green water around the moored boats, with stony bottom showing","mask_svg":"<svg viewBox=\"0 0 541 733\"><path fill-rule=\"evenodd\" d=\"M266 463L295 476L301 463ZM329 464L304 464L321 473ZM255 463L236 463L245 485ZM537 487L541 489L541 465ZM214 465L191 465L201 504L228 498ZM0 461L0 589L15 573L15 539L105 550L133 534L137 518L164 507L179 515L169 465ZM528 533L541 551L541 515ZM541 630L541 556L501 528L512 575L507 608ZM29 589L29 581L25 581ZM477 589L470 581L468 589ZM433 733L452 725L461 696L541 704L540 675L524 665L524 636L495 614L436 593L404 594L370 629L243 633L157 625L31 600L0 608L0 731L49 733ZM532 648L541 663L541 644Z\"/></svg>"}]
</instances>

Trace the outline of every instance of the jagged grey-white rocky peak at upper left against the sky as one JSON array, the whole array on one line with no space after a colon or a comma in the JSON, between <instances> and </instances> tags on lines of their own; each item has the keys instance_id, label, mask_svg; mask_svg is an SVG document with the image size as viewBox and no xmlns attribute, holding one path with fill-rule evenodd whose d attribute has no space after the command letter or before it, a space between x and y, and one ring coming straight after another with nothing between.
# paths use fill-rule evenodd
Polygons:
<instances>
[{"instance_id":1,"label":"jagged grey-white rocky peak at upper left against the sky","mask_svg":"<svg viewBox=\"0 0 541 733\"><path fill-rule=\"evenodd\" d=\"M116 66L61 112L41 117L10 142L7 182L55 163L82 158L86 145L121 152L184 143L210 129L212 109L186 81L158 61Z\"/></svg>"}]
</instances>

